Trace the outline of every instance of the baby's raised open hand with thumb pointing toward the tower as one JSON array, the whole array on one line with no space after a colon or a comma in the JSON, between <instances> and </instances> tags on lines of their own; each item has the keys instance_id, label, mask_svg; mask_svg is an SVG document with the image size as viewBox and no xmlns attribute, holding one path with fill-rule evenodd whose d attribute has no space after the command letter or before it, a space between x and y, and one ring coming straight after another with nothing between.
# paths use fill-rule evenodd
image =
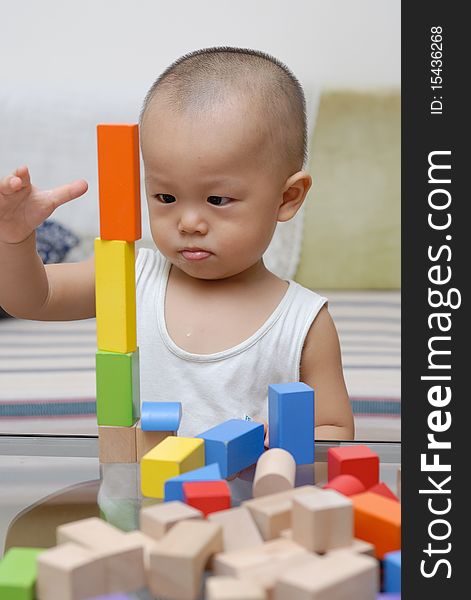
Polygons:
<instances>
[{"instance_id":1,"label":"baby's raised open hand with thumb pointing toward the tower","mask_svg":"<svg viewBox=\"0 0 471 600\"><path fill-rule=\"evenodd\" d=\"M0 242L26 240L61 204L82 196L88 183L79 179L52 190L31 185L28 167L0 179Z\"/></svg>"}]
</instances>

